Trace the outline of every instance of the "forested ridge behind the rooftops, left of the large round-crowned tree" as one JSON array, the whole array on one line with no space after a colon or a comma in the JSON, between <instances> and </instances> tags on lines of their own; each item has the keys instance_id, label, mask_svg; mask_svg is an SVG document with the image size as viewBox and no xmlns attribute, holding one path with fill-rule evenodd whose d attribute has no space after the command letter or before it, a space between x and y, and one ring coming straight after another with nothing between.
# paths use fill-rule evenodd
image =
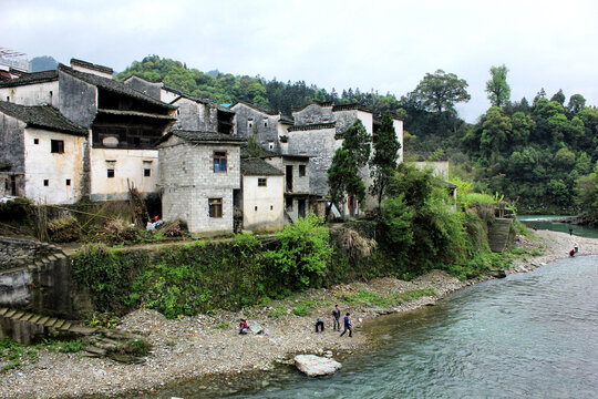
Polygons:
<instances>
[{"instance_id":1,"label":"forested ridge behind the rooftops, left of the large round-crowned tree","mask_svg":"<svg viewBox=\"0 0 598 399\"><path fill-rule=\"evenodd\" d=\"M220 73L217 70L202 72L187 68L183 62L161 59L157 55L146 57L141 62L134 61L115 79L124 80L132 74L151 81L163 81L167 86L193 96L209 98L220 104L246 101L281 111L287 115L291 114L292 108L302 106L313 100L333 101L339 104L360 103L371 108L375 113L396 112L400 108L399 101L392 94L362 93L359 89L343 90L339 94L334 89L328 92L315 84L308 85L305 81L283 83L276 79L269 81L259 76Z\"/></svg>"}]
</instances>

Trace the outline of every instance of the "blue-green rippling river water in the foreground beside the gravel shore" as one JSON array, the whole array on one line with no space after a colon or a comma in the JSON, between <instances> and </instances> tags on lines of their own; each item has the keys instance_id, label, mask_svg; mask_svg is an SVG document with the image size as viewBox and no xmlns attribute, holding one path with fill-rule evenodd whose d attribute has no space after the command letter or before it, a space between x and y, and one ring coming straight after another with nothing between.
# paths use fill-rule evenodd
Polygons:
<instances>
[{"instance_id":1,"label":"blue-green rippling river water in the foreground beside the gravel shore","mask_svg":"<svg viewBox=\"0 0 598 399\"><path fill-rule=\"evenodd\" d=\"M598 256L481 283L434 307L377 318L364 327L377 347L332 377L288 368L228 397L598 398L597 286ZM196 386L157 397L204 397Z\"/></svg>"}]
</instances>

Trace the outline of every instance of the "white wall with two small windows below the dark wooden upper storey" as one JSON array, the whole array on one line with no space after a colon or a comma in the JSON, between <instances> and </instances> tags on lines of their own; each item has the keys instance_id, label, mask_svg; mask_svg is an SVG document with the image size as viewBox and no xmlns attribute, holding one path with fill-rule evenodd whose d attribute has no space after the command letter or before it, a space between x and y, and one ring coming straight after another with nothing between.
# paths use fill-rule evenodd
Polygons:
<instances>
[{"instance_id":1,"label":"white wall with two small windows below the dark wooden upper storey","mask_svg":"<svg viewBox=\"0 0 598 399\"><path fill-rule=\"evenodd\" d=\"M140 193L157 192L157 162L156 150L91 149L91 200L126 200L127 178ZM109 168L114 168L114 177L107 177ZM145 168L150 176L144 176Z\"/></svg>"}]
</instances>

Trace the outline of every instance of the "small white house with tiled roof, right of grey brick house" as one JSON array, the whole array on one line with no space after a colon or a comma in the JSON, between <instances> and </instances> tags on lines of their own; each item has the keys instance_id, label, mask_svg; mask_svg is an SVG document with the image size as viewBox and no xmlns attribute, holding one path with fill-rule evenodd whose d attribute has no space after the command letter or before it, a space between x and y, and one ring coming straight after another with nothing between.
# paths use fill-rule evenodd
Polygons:
<instances>
[{"instance_id":1,"label":"small white house with tiled roof, right of grey brick house","mask_svg":"<svg viewBox=\"0 0 598 399\"><path fill-rule=\"evenodd\" d=\"M259 157L241 158L243 229L276 232L285 227L285 174Z\"/></svg>"}]
</instances>

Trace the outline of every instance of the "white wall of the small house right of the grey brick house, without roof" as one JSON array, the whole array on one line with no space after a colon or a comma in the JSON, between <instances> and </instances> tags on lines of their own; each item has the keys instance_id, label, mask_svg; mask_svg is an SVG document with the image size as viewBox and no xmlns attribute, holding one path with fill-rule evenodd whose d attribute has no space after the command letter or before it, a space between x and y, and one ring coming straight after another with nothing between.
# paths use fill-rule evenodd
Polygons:
<instances>
[{"instance_id":1,"label":"white wall of the small house right of the grey brick house, without roof","mask_svg":"<svg viewBox=\"0 0 598 399\"><path fill-rule=\"evenodd\" d=\"M258 186L266 178L266 186ZM285 177L243 176L243 228L250 231L280 231L285 226Z\"/></svg>"}]
</instances>

